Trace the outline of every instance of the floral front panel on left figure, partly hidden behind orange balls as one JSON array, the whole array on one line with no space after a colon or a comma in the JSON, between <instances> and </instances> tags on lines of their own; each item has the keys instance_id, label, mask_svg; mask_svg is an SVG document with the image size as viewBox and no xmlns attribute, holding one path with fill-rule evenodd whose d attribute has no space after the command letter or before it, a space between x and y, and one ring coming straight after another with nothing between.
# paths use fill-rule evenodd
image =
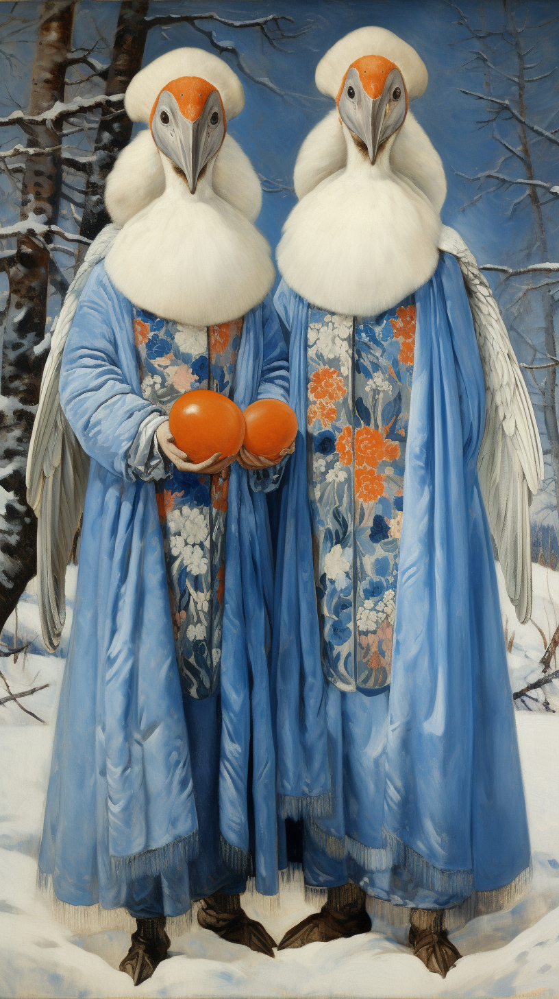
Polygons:
<instances>
[{"instance_id":1,"label":"floral front panel on left figure, partly hidden behind orange balls","mask_svg":"<svg viewBox=\"0 0 559 999\"><path fill-rule=\"evenodd\" d=\"M167 413L193 389L233 394L243 320L201 329L134 309L144 397ZM197 476L173 467L156 483L177 659L185 690L208 697L220 682L229 469Z\"/></svg>"}]
</instances>

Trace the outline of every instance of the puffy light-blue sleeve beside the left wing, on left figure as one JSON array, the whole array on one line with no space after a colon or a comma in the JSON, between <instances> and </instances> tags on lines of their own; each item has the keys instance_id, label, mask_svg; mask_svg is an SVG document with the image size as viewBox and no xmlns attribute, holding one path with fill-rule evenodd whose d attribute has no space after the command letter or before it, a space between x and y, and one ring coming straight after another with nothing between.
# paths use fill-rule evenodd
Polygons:
<instances>
[{"instance_id":1,"label":"puffy light-blue sleeve beside the left wing, on left figure","mask_svg":"<svg viewBox=\"0 0 559 999\"><path fill-rule=\"evenodd\" d=\"M84 451L109 472L134 481L129 452L143 424L162 410L140 393L132 305L99 264L82 293L60 372L60 401ZM161 422L161 421L160 421Z\"/></svg>"}]
</instances>

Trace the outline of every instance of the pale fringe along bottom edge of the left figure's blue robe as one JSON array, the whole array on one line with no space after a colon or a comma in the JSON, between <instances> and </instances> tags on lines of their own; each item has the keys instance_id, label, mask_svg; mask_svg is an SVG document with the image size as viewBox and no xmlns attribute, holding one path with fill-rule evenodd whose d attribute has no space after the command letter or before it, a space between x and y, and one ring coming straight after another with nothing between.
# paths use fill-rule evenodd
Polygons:
<instances>
[{"instance_id":1,"label":"pale fringe along bottom edge of the left figure's blue robe","mask_svg":"<svg viewBox=\"0 0 559 999\"><path fill-rule=\"evenodd\" d=\"M74 933L100 933L103 930L126 930L134 933L137 929L136 919L122 906L116 909L104 909L99 902L93 905L71 905L70 902L62 902L54 893L52 874L45 874L39 870L37 886L50 900L56 921ZM191 906L187 912L179 916L167 916L166 931L171 937L183 936L190 929L192 920Z\"/></svg>"}]
</instances>

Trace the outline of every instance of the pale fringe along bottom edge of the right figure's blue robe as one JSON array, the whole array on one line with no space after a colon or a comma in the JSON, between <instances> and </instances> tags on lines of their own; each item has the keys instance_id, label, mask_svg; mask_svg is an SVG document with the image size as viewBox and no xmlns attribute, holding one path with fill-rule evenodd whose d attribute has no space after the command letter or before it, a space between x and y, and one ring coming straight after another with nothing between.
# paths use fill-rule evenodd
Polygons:
<instances>
[{"instance_id":1,"label":"pale fringe along bottom edge of the right figure's blue robe","mask_svg":"<svg viewBox=\"0 0 559 999\"><path fill-rule=\"evenodd\" d=\"M444 928L449 933L456 932L477 916L487 916L492 912L503 912L512 908L521 900L531 878L530 861L528 867L521 871L514 881L502 888L495 888L493 891L473 891L459 905L444 910ZM371 917L390 926L407 926L412 911L408 906L394 905L373 895L367 895L366 908Z\"/></svg>"}]
</instances>

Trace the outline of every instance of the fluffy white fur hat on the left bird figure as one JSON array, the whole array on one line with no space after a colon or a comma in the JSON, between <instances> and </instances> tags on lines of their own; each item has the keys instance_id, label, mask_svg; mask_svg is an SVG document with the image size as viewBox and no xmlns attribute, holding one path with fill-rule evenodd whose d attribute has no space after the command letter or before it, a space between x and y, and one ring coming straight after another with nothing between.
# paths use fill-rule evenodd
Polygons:
<instances>
[{"instance_id":1,"label":"fluffy white fur hat on the left bird figure","mask_svg":"<svg viewBox=\"0 0 559 999\"><path fill-rule=\"evenodd\" d=\"M200 76L220 91L228 121L245 106L245 91L239 77L219 56L204 49L173 49L144 66L131 81L124 98L133 122L149 122L150 113L166 84L181 76Z\"/></svg>"}]
</instances>

